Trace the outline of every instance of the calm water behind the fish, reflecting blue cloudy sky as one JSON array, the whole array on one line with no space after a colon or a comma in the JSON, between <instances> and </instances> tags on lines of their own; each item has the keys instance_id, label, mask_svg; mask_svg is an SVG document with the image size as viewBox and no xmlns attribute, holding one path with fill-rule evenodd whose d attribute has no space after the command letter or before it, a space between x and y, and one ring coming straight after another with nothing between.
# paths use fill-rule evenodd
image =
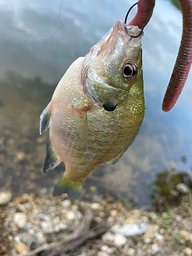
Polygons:
<instances>
[{"instance_id":1,"label":"calm water behind the fish, reflecting blue cloudy sky","mask_svg":"<svg viewBox=\"0 0 192 256\"><path fill-rule=\"evenodd\" d=\"M176 1L174 1L177 6ZM42 174L47 134L39 135L39 116L57 82L70 64L84 56L133 1L75 0L63 3L59 28L60 0L2 1L0 8L0 186L15 193L52 188L62 175L63 165ZM130 19L136 10L130 14ZM143 71L146 114L134 143L115 165L100 166L85 188L98 186L130 198L137 205L151 202L147 185L173 162L190 172L191 74L177 105L169 113L161 103L174 67L182 30L181 13L168 1L157 1L143 36ZM187 163L180 161L187 157Z\"/></svg>"}]
</instances>

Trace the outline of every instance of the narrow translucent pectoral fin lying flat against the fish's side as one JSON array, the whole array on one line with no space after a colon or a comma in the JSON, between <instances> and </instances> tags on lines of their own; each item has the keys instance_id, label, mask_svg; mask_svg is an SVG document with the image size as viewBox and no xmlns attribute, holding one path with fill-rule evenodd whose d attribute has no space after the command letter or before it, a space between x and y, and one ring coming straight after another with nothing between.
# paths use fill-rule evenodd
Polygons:
<instances>
[{"instance_id":1,"label":"narrow translucent pectoral fin lying flat against the fish's side","mask_svg":"<svg viewBox=\"0 0 192 256\"><path fill-rule=\"evenodd\" d=\"M86 146L86 151L88 152L88 119L87 119L87 109L77 109L73 108L73 113L75 117L75 122L77 126L77 131Z\"/></svg>"}]
</instances>

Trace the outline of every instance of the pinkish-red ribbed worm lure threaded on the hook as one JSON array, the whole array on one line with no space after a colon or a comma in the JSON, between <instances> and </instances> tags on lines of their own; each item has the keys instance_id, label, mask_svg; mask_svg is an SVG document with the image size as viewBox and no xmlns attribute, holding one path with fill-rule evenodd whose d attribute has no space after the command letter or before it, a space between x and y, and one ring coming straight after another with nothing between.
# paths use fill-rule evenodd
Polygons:
<instances>
[{"instance_id":1,"label":"pinkish-red ribbed worm lure threaded on the hook","mask_svg":"<svg viewBox=\"0 0 192 256\"><path fill-rule=\"evenodd\" d=\"M163 99L162 110L173 108L186 82L192 62L192 0L179 0L183 17L183 32L175 67ZM150 21L155 0L139 0L138 11L129 25L145 27Z\"/></svg>"}]
</instances>

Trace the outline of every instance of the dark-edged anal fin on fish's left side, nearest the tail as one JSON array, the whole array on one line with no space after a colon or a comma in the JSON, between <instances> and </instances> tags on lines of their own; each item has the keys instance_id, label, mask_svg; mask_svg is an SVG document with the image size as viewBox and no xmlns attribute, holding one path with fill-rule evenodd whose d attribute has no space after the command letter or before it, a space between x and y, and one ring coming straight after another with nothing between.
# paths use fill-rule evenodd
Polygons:
<instances>
[{"instance_id":1,"label":"dark-edged anal fin on fish's left side, nearest the tail","mask_svg":"<svg viewBox=\"0 0 192 256\"><path fill-rule=\"evenodd\" d=\"M44 173L49 172L49 170L53 170L57 165L60 164L60 158L59 156L55 153L50 139L47 141L47 155L46 155L46 160L44 164Z\"/></svg>"}]
</instances>

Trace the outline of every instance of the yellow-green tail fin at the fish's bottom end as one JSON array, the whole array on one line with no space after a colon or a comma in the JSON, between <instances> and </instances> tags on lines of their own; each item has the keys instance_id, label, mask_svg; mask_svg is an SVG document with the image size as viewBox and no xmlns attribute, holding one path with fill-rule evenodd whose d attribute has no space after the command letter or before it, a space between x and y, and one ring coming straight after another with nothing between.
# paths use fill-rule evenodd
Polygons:
<instances>
[{"instance_id":1,"label":"yellow-green tail fin at the fish's bottom end","mask_svg":"<svg viewBox=\"0 0 192 256\"><path fill-rule=\"evenodd\" d=\"M77 199L81 193L83 183L68 180L64 175L54 188L53 196L60 196L67 193L70 198Z\"/></svg>"}]
</instances>

